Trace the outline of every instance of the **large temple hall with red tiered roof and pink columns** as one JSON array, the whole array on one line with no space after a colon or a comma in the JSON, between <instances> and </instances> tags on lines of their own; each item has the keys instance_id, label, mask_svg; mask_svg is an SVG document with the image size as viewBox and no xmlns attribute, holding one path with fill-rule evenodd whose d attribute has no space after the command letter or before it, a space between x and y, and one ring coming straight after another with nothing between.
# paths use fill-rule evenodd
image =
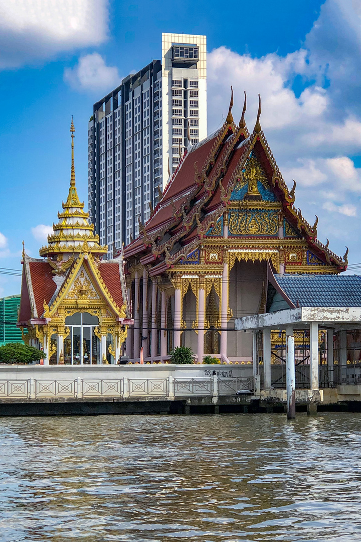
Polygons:
<instances>
[{"instance_id":1,"label":"large temple hall with red tiered roof and pink columns","mask_svg":"<svg viewBox=\"0 0 361 542\"><path fill-rule=\"evenodd\" d=\"M134 307L127 355L165 360L176 346L223 363L252 363L252 333L234 319L267 312L273 274L338 274L337 256L295 206L260 126L250 133L246 97L212 135L188 145L140 235L123 251ZM188 138L189 140L189 138ZM169 167L168 167L169 170ZM271 285L272 286L272 285ZM272 300L270 299L272 294ZM309 339L308 339L309 341ZM308 346L309 347L309 346Z\"/></svg>"}]
</instances>

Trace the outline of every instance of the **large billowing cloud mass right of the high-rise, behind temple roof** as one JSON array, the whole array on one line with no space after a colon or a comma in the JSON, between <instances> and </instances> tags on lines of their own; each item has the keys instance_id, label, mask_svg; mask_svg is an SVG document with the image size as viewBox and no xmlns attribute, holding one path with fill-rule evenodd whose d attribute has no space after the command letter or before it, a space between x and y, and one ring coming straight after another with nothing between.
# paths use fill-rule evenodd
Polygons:
<instances>
[{"instance_id":1,"label":"large billowing cloud mass right of the high-rise, behind temple roof","mask_svg":"<svg viewBox=\"0 0 361 542\"><path fill-rule=\"evenodd\" d=\"M231 85L236 122L247 92L252 131L260 93L261 126L286 182L297 182L297 207L311 223L319 215L320 239L340 254L347 244L357 261L361 169L350 157L360 152L360 11L353 0L326 0L299 50L254 58L220 47L207 62L209 131L227 113Z\"/></svg>"}]
</instances>

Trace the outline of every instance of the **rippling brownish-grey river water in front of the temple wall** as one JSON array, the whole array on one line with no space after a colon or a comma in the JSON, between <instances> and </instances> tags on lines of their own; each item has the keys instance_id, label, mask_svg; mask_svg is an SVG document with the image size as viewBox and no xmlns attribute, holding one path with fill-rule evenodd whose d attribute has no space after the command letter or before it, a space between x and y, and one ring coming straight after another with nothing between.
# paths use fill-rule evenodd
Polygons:
<instances>
[{"instance_id":1,"label":"rippling brownish-grey river water in front of the temple wall","mask_svg":"<svg viewBox=\"0 0 361 542\"><path fill-rule=\"evenodd\" d=\"M361 540L360 416L0 418L0 539Z\"/></svg>"}]
</instances>

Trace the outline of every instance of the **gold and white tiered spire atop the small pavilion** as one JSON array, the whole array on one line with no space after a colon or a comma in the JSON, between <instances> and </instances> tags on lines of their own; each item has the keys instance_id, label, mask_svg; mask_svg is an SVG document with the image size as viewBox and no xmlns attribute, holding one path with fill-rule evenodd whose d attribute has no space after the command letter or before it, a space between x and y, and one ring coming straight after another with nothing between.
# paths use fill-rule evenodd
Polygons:
<instances>
[{"instance_id":1,"label":"gold and white tiered spire atop the small pavilion","mask_svg":"<svg viewBox=\"0 0 361 542\"><path fill-rule=\"evenodd\" d=\"M89 224L89 213L84 212L84 202L80 202L75 186L74 167L74 124L71 118L71 174L67 201L62 203L63 212L58 212L60 219L52 225L54 234L48 235L48 246L39 250L41 256L81 253L84 242L93 254L107 254L107 246L100 246L99 235L94 235L94 225Z\"/></svg>"}]
</instances>

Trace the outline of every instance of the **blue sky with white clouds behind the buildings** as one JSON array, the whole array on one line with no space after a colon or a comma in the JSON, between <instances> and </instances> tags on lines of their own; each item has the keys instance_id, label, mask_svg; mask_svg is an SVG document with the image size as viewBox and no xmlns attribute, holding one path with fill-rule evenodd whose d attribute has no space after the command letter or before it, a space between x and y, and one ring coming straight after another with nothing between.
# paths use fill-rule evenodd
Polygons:
<instances>
[{"instance_id":1,"label":"blue sky with white clouds behind the buildings","mask_svg":"<svg viewBox=\"0 0 361 542\"><path fill-rule=\"evenodd\" d=\"M76 128L78 195L87 205L93 104L161 58L161 33L207 36L208 133L247 92L250 131L262 129L296 206L318 238L361 274L361 4L258 0L180 4L0 0L0 295L20 293L25 250L38 257L70 180ZM5 268L5 269L4 269ZM14 272L15 273L15 272Z\"/></svg>"}]
</instances>

